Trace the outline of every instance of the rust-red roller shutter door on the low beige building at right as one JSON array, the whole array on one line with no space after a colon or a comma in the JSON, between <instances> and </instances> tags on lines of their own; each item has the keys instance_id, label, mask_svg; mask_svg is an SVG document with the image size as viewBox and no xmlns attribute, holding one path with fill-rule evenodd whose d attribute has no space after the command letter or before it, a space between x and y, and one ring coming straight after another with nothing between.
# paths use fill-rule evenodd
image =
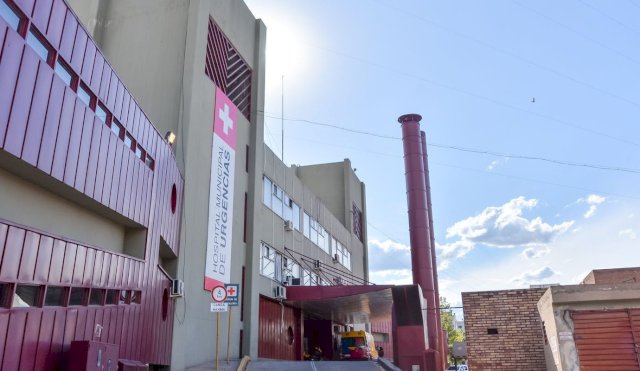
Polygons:
<instances>
[{"instance_id":1,"label":"rust-red roller shutter door on the low beige building at right","mask_svg":"<svg viewBox=\"0 0 640 371\"><path fill-rule=\"evenodd\" d=\"M640 310L572 313L580 370L640 371Z\"/></svg>"}]
</instances>

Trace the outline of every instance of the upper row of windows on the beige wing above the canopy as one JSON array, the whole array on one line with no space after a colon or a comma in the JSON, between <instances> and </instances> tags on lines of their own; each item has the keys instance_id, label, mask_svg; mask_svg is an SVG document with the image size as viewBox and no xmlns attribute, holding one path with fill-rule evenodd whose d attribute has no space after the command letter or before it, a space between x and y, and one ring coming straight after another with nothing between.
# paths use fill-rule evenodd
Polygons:
<instances>
[{"instance_id":1,"label":"upper row of windows on the beige wing above the canopy","mask_svg":"<svg viewBox=\"0 0 640 371\"><path fill-rule=\"evenodd\" d=\"M291 221L297 231L300 231L300 215L302 214L304 236L322 251L333 256L334 260L351 270L351 253L347 248L333 238L320 222L306 212L301 212L300 206L266 176L263 177L263 203L285 221Z\"/></svg>"}]
</instances>

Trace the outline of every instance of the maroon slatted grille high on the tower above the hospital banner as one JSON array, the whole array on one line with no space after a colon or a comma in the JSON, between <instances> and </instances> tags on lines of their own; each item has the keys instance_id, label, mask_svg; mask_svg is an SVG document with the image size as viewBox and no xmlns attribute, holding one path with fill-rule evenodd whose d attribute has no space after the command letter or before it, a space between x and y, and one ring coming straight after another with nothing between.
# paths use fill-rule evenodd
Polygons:
<instances>
[{"instance_id":1,"label":"maroon slatted grille high on the tower above the hospital banner","mask_svg":"<svg viewBox=\"0 0 640 371\"><path fill-rule=\"evenodd\" d=\"M205 74L251 120L251 68L211 18Z\"/></svg>"}]
</instances>

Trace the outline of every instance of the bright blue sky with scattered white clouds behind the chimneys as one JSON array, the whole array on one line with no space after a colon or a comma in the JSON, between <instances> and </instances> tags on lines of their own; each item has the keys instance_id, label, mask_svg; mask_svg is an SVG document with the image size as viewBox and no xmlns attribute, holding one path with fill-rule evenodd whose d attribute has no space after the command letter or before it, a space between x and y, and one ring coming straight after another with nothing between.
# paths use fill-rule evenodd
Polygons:
<instances>
[{"instance_id":1,"label":"bright blue sky with scattered white clouds behind the chimneys","mask_svg":"<svg viewBox=\"0 0 640 371\"><path fill-rule=\"evenodd\" d=\"M640 262L640 0L246 3L267 25L265 141L281 153L284 75L284 160L351 159L374 282L411 280L393 137L413 112L449 302Z\"/></svg>"}]
</instances>

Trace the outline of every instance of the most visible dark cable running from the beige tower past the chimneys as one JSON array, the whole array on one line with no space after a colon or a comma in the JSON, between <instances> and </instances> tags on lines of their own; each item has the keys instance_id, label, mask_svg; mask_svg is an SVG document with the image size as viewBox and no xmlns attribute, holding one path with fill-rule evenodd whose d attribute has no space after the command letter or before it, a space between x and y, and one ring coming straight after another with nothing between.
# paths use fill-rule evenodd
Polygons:
<instances>
[{"instance_id":1,"label":"most visible dark cable running from the beige tower past the chimneys","mask_svg":"<svg viewBox=\"0 0 640 371\"><path fill-rule=\"evenodd\" d=\"M264 111L259 111L259 112L261 112L264 115L264 117L272 118L272 119L279 119L279 120L292 121L292 122L301 122L301 123L306 123L306 124L310 124L310 125L329 127L329 128L342 130L342 131L346 131L346 132L350 132L350 133L354 133L354 134L368 135L368 136L372 136L372 137L376 137L376 138L393 139L393 140L401 140L402 139L402 138L396 137L396 136L377 134L377 133L373 133L373 132L369 132L369 131L349 129L349 128L346 128L344 126L339 126L339 125L334 125L334 124L328 124L328 123L323 123L323 122L318 122L318 121L311 121L311 120L306 120L306 119L282 118L282 117L276 117L276 116L268 115ZM546 158L546 157L542 157L542 156L529 156L529 155L520 155L520 154L506 153L506 152L496 152L496 151L490 151L490 150L485 150L485 149L468 148L468 147L461 147L461 146L448 145L448 144L439 144L439 143L427 143L427 145L431 146L431 147L450 149L450 150L455 150L455 151L459 151L459 152L476 153L476 154L490 155L490 156L495 156L495 157L508 157L508 158L515 158L515 159L521 159L521 160L543 161L543 162L548 162L548 163L552 163L552 164L556 164L556 165L563 165L563 166L584 167L584 168L591 168L591 169L597 169L597 170L617 171L617 172L625 172L625 173L632 173L632 174L640 174L640 169L624 168L624 167L619 167L619 166L606 166L606 165L597 165L597 164L587 164L587 163L572 162L572 161L565 161L565 160L556 160L556 159Z\"/></svg>"}]
</instances>

